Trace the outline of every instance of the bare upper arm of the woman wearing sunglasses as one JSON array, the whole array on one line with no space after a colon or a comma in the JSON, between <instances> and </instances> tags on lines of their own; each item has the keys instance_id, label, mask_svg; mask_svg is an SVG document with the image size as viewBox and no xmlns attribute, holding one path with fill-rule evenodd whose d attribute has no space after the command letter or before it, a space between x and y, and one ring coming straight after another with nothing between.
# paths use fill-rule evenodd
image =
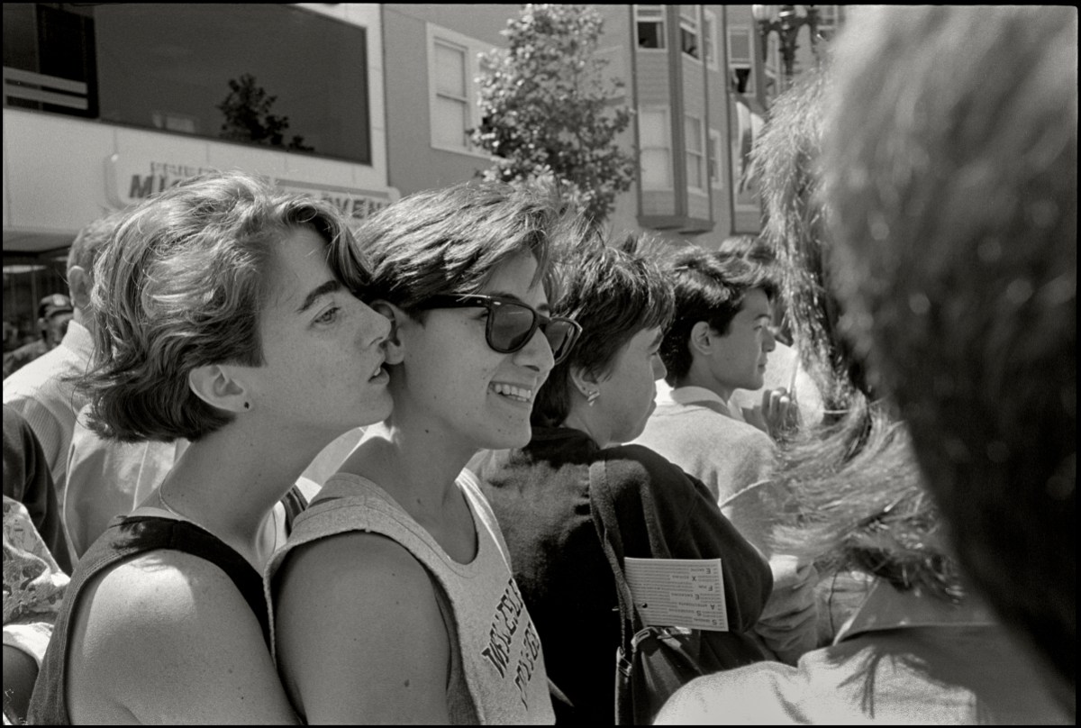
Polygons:
<instances>
[{"instance_id":1,"label":"bare upper arm of the woman wearing sunglasses","mask_svg":"<svg viewBox=\"0 0 1081 728\"><path fill-rule=\"evenodd\" d=\"M301 547L276 583L282 679L308 723L445 724L451 645L424 567L393 541Z\"/></svg>"}]
</instances>

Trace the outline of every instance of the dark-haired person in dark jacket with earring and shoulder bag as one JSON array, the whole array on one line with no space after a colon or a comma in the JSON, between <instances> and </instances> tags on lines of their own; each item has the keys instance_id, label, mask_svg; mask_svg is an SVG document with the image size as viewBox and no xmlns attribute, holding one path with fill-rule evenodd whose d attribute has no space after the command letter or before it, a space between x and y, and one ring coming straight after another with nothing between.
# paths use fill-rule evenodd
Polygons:
<instances>
[{"instance_id":1,"label":"dark-haired person in dark jacket with earring and shoulder bag","mask_svg":"<svg viewBox=\"0 0 1081 728\"><path fill-rule=\"evenodd\" d=\"M626 556L721 558L730 632L705 633L718 663L764 660L749 634L772 588L766 561L721 515L706 486L640 446L665 375L657 349L675 302L641 241L597 244L568 261L557 313L583 325L537 396L533 438L480 459L478 475L536 620L548 675L574 705L570 722L612 725L619 645L615 580L590 506L590 473L618 517ZM563 716L561 716L563 717Z\"/></svg>"}]
</instances>

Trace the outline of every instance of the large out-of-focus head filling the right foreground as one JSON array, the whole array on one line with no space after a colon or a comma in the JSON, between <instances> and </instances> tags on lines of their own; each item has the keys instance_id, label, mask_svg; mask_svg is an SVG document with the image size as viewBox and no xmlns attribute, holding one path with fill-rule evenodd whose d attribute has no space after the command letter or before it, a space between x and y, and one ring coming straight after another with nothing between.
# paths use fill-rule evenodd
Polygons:
<instances>
[{"instance_id":1,"label":"large out-of-focus head filling the right foreground","mask_svg":"<svg viewBox=\"0 0 1081 728\"><path fill-rule=\"evenodd\" d=\"M906 9L860 27L824 141L845 320L966 574L1072 707L1078 11Z\"/></svg>"}]
</instances>

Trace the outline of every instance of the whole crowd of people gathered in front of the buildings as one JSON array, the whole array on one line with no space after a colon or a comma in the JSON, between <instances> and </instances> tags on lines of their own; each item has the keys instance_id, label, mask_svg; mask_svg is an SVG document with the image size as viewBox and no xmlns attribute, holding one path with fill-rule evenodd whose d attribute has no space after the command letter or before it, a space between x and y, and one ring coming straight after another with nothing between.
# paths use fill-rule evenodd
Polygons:
<instances>
[{"instance_id":1,"label":"whole crowd of people gathered in front of the buildings","mask_svg":"<svg viewBox=\"0 0 1081 728\"><path fill-rule=\"evenodd\" d=\"M5 724L613 725L625 559L721 564L651 722L1075 723L1076 9L865 11L753 158L717 251L243 172L89 224L5 361Z\"/></svg>"}]
</instances>

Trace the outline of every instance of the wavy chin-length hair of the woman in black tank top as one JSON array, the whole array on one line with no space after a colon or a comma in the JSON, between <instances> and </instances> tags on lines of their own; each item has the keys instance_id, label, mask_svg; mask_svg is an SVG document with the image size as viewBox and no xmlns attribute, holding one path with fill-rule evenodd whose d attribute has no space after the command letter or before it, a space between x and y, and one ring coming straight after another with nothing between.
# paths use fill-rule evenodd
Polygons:
<instances>
[{"instance_id":1,"label":"wavy chin-length hair of the woman in black tank top","mask_svg":"<svg viewBox=\"0 0 1081 728\"><path fill-rule=\"evenodd\" d=\"M206 174L133 210L94 264L90 426L121 441L198 440L232 415L188 385L196 368L263 363L258 320L275 243L309 227L353 292L369 273L337 210L240 172Z\"/></svg>"}]
</instances>

